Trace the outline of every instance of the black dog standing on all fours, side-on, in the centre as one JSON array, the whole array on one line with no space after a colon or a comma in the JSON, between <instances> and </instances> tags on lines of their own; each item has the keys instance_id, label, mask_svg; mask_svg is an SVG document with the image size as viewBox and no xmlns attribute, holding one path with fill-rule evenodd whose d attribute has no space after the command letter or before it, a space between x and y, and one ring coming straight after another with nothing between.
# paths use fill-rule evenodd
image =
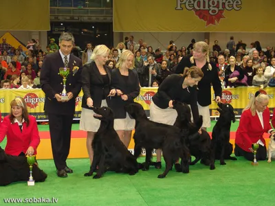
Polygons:
<instances>
[{"instance_id":1,"label":"black dog standing on all fours, side-on, in the centre","mask_svg":"<svg viewBox=\"0 0 275 206\"><path fill-rule=\"evenodd\" d=\"M185 137L179 128L167 124L150 121L141 104L131 103L125 110L135 119L134 156L140 156L142 147L146 150L146 161L142 170L148 170L151 163L152 150L162 149L166 168L158 178L164 178L172 168L173 163L181 158L182 172L189 172L190 154L185 145Z\"/></svg>"}]
</instances>

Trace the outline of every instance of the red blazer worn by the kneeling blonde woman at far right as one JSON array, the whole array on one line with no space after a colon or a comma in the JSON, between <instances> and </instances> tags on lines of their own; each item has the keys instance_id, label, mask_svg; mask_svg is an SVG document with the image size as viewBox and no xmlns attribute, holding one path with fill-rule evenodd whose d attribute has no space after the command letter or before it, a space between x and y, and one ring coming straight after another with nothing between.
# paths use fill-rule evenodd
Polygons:
<instances>
[{"instance_id":1,"label":"red blazer worn by the kneeling blonde woman at far right","mask_svg":"<svg viewBox=\"0 0 275 206\"><path fill-rule=\"evenodd\" d=\"M264 128L263 128L264 126ZM270 125L270 109L266 108L263 111L263 126L261 125L258 114L252 116L250 109L241 114L241 120L238 129L236 130L235 144L250 152L252 143L256 143L259 139L265 144L263 133L267 133L272 127Z\"/></svg>"}]
</instances>

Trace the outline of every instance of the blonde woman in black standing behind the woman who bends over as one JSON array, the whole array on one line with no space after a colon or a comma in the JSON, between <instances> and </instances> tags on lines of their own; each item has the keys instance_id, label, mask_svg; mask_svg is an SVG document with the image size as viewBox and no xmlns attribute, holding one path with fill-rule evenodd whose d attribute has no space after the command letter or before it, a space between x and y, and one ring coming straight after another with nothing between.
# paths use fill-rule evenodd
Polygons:
<instances>
[{"instance_id":1,"label":"blonde woman in black standing behind the woman who bends over","mask_svg":"<svg viewBox=\"0 0 275 206\"><path fill-rule=\"evenodd\" d=\"M221 81L219 80L217 67L210 64L208 44L199 41L193 45L192 56L186 56L181 59L177 65L175 73L184 73L185 67L197 66L203 72L203 78L198 84L197 104L199 114L203 116L202 128L211 126L209 105L212 103L211 84L214 89L215 102L221 101Z\"/></svg>"}]
</instances>

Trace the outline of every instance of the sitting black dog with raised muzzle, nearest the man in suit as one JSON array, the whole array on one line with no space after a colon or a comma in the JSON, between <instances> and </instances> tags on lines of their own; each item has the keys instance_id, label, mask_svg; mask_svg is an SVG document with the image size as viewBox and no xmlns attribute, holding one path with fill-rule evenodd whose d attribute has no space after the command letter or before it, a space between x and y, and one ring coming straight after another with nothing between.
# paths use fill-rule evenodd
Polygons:
<instances>
[{"instance_id":1,"label":"sitting black dog with raised muzzle, nearest the man in suit","mask_svg":"<svg viewBox=\"0 0 275 206\"><path fill-rule=\"evenodd\" d=\"M100 178L106 170L130 175L137 173L139 164L136 158L120 141L118 133L113 128L113 111L111 108L106 106L94 108L94 112L96 113L94 117L100 119L100 128L92 143L94 159L91 170L85 176L91 176L96 171L97 165L98 172L93 177L94 179Z\"/></svg>"}]
</instances>

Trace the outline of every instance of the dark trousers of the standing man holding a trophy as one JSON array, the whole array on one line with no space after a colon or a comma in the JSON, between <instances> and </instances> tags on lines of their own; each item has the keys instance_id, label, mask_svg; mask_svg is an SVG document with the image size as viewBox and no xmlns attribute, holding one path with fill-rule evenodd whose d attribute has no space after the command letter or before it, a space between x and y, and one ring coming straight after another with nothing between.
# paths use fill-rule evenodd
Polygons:
<instances>
[{"instance_id":1,"label":"dark trousers of the standing man holding a trophy","mask_svg":"<svg viewBox=\"0 0 275 206\"><path fill-rule=\"evenodd\" d=\"M54 164L57 170L63 170L67 166L74 115L48 114L48 117Z\"/></svg>"}]
</instances>

